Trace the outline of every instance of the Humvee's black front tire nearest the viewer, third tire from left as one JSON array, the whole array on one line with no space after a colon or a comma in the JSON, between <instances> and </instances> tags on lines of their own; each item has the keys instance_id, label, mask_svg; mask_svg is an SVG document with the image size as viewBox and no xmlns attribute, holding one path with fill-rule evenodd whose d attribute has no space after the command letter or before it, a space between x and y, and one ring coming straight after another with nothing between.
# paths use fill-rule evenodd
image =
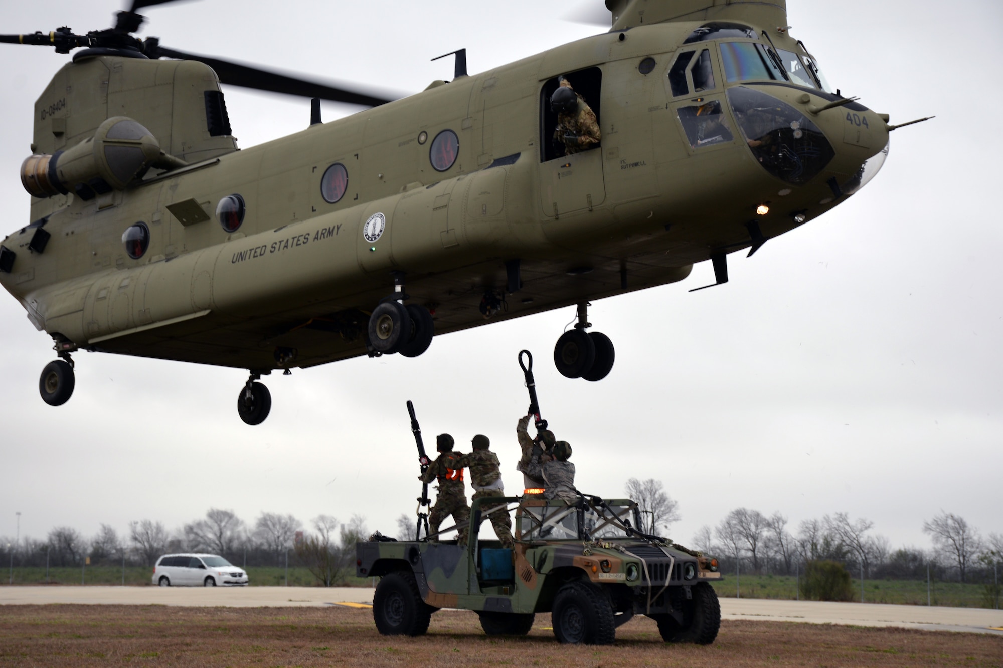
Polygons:
<instances>
[{"instance_id":1,"label":"Humvee's black front tire nearest the viewer, third tire from left","mask_svg":"<svg viewBox=\"0 0 1003 668\"><path fill-rule=\"evenodd\" d=\"M572 582L554 597L551 618L554 635L570 645L612 645L617 628L613 606L597 587Z\"/></svg>"}]
</instances>

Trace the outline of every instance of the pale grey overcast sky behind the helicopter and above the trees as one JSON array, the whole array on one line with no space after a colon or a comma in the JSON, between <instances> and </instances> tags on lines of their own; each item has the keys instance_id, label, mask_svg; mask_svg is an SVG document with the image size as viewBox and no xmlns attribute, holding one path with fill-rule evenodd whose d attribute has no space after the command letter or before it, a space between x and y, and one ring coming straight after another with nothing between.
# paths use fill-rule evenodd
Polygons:
<instances>
[{"instance_id":1,"label":"pale grey overcast sky behind the helicopter and above the trees","mask_svg":"<svg viewBox=\"0 0 1003 668\"><path fill-rule=\"evenodd\" d=\"M593 0L600 4L602 0ZM203 0L145 10L166 46L316 78L418 91L450 78L466 47L475 73L602 28L559 20L568 3ZM487 9L490 7L491 9ZM791 522L845 511L894 545L926 547L942 509L1003 532L1003 267L998 261L1003 133L995 0L788 0L791 34L833 86L892 115L937 118L892 135L882 173L822 218L709 263L683 283L594 303L617 349L599 383L550 361L574 309L436 337L417 359L359 358L266 379L272 413L237 416L245 371L80 352L76 390L52 408L38 375L54 354L0 294L0 535L55 525L93 534L148 518L180 528L210 507L252 523L360 513L392 534L419 491L406 399L426 434L491 439L510 491L515 426L527 405L520 349L538 357L540 400L574 446L578 486L619 495L662 480L688 543L737 507ZM112 1L4 3L0 32L85 32ZM18 168L33 104L68 56L0 44L2 232L29 222ZM227 87L242 147L309 123L306 99ZM324 119L356 111L325 103ZM708 203L708 207L711 203ZM650 342L657 341L652 346Z\"/></svg>"}]
</instances>

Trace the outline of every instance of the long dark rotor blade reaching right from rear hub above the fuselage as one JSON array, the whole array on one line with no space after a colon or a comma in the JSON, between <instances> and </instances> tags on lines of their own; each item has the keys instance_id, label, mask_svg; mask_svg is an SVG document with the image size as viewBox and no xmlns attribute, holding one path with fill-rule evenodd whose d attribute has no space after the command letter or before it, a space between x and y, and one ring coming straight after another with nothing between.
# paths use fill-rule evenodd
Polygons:
<instances>
[{"instance_id":1,"label":"long dark rotor blade reaching right from rear hub above the fuselage","mask_svg":"<svg viewBox=\"0 0 1003 668\"><path fill-rule=\"evenodd\" d=\"M231 60L169 49L158 44L153 49L147 49L146 54L154 58L166 56L169 58L181 58L184 60L198 60L215 69L222 83L254 88L256 90L268 90L303 97L320 97L321 99L329 99L334 102L347 102L363 106L379 106L380 104L386 104L402 97L402 95L382 91L366 92L359 89L350 90L348 88L335 87L325 83L289 76L288 74L270 72L252 65L243 65Z\"/></svg>"}]
</instances>

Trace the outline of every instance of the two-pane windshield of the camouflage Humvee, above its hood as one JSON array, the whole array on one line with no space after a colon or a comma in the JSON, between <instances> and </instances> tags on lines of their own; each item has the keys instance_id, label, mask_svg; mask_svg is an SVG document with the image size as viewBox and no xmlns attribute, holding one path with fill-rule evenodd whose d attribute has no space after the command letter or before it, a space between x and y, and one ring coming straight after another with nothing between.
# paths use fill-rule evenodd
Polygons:
<instances>
[{"instance_id":1,"label":"two-pane windshield of the camouflage Humvee, above its hood","mask_svg":"<svg viewBox=\"0 0 1003 668\"><path fill-rule=\"evenodd\" d=\"M525 507L521 516L524 541L581 541L630 538L637 527L636 506L607 505Z\"/></svg>"}]
</instances>

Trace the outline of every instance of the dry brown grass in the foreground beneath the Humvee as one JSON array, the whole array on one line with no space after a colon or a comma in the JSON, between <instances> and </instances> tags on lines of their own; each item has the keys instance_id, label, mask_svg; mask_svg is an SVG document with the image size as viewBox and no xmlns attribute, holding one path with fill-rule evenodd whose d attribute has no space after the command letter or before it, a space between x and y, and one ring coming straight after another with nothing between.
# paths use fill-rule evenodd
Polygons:
<instances>
[{"instance_id":1,"label":"dry brown grass in the foreground beneath the Humvee","mask_svg":"<svg viewBox=\"0 0 1003 668\"><path fill-rule=\"evenodd\" d=\"M368 610L0 607L0 666L1001 666L1003 639L905 629L724 622L709 647L666 645L635 619L612 647L569 647L549 615L526 638L440 612L428 635L384 638Z\"/></svg>"}]
</instances>

